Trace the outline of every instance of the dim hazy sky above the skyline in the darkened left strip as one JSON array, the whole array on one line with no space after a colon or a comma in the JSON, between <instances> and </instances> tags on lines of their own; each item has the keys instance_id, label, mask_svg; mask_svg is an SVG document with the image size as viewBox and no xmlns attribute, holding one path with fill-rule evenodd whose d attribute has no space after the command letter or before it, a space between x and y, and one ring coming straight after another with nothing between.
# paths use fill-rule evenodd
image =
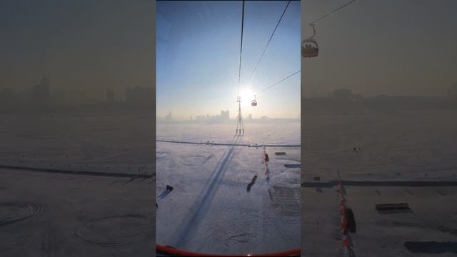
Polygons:
<instances>
[{"instance_id":1,"label":"dim hazy sky above the skyline in the darkened left strip","mask_svg":"<svg viewBox=\"0 0 457 257\"><path fill-rule=\"evenodd\" d=\"M154 1L0 1L0 89L154 86ZM91 94L92 93L92 94Z\"/></svg>"}]
</instances>

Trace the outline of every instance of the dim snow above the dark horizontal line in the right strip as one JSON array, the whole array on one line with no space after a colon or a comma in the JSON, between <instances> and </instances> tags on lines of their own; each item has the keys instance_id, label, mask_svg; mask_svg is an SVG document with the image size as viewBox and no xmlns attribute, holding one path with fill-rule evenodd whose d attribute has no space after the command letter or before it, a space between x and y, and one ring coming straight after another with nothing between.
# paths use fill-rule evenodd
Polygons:
<instances>
[{"instance_id":1,"label":"dim snow above the dark horizontal line in the right strip","mask_svg":"<svg viewBox=\"0 0 457 257\"><path fill-rule=\"evenodd\" d=\"M457 181L457 111L303 117L303 181ZM360 147L360 151L353 151Z\"/></svg>"}]
</instances>

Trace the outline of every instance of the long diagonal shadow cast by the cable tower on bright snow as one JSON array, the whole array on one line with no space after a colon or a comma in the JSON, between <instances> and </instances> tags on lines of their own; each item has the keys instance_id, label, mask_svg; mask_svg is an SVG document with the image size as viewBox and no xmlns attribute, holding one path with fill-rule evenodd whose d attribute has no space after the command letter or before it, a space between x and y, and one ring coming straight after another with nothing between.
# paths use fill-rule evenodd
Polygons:
<instances>
[{"instance_id":1,"label":"long diagonal shadow cast by the cable tower on bright snow","mask_svg":"<svg viewBox=\"0 0 457 257\"><path fill-rule=\"evenodd\" d=\"M191 206L189 213L187 213L184 220L181 221L176 232L172 234L174 239L171 240L173 243L171 246L184 248L189 243L189 239L194 238L199 223L201 223L202 218L204 218L206 212L209 211L209 208L211 207L211 201L219 188L218 182L224 177L224 173L233 159L236 151L234 145L238 143L241 138L242 136L236 137L231 146L224 151L221 160L211 173L208 181L206 181L206 186L199 193L199 196Z\"/></svg>"}]
</instances>

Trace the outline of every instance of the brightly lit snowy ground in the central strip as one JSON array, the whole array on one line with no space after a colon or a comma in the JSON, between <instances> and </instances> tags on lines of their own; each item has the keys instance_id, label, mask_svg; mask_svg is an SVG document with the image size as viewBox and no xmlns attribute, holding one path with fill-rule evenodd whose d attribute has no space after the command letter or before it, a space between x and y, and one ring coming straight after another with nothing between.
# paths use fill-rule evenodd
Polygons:
<instances>
[{"instance_id":1,"label":"brightly lit snowy ground in the central strip","mask_svg":"<svg viewBox=\"0 0 457 257\"><path fill-rule=\"evenodd\" d=\"M299 121L158 124L157 138L217 143L300 143ZM300 246L299 148L263 149L157 142L156 240L201 253L267 253ZM285 151L286 156L275 156ZM246 186L258 176L251 191ZM166 185L174 187L167 192Z\"/></svg>"}]
</instances>

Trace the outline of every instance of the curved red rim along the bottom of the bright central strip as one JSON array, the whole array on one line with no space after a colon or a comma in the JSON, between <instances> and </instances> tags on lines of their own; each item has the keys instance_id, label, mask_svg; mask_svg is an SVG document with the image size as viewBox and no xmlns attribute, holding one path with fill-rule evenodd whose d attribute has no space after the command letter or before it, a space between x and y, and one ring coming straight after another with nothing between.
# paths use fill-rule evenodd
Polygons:
<instances>
[{"instance_id":1,"label":"curved red rim along the bottom of the bright central strip","mask_svg":"<svg viewBox=\"0 0 457 257\"><path fill-rule=\"evenodd\" d=\"M301 254L300 249L281 251L276 253L244 253L244 254L214 254L214 253L195 253L191 251L182 251L169 246L162 246L156 243L156 252L169 256L289 256L298 257Z\"/></svg>"}]
</instances>

